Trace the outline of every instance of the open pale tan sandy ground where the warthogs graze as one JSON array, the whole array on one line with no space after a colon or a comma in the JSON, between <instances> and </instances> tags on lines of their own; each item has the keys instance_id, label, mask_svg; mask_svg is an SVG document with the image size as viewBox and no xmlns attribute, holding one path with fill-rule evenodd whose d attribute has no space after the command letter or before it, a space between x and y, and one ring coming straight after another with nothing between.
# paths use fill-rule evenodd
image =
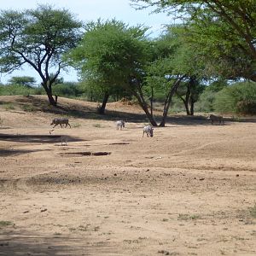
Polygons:
<instances>
[{"instance_id":1,"label":"open pale tan sandy ground where the warthogs graze","mask_svg":"<svg viewBox=\"0 0 256 256\"><path fill-rule=\"evenodd\" d=\"M54 113L1 99L0 255L256 255L256 123L142 137L84 116L50 135Z\"/></svg>"}]
</instances>

